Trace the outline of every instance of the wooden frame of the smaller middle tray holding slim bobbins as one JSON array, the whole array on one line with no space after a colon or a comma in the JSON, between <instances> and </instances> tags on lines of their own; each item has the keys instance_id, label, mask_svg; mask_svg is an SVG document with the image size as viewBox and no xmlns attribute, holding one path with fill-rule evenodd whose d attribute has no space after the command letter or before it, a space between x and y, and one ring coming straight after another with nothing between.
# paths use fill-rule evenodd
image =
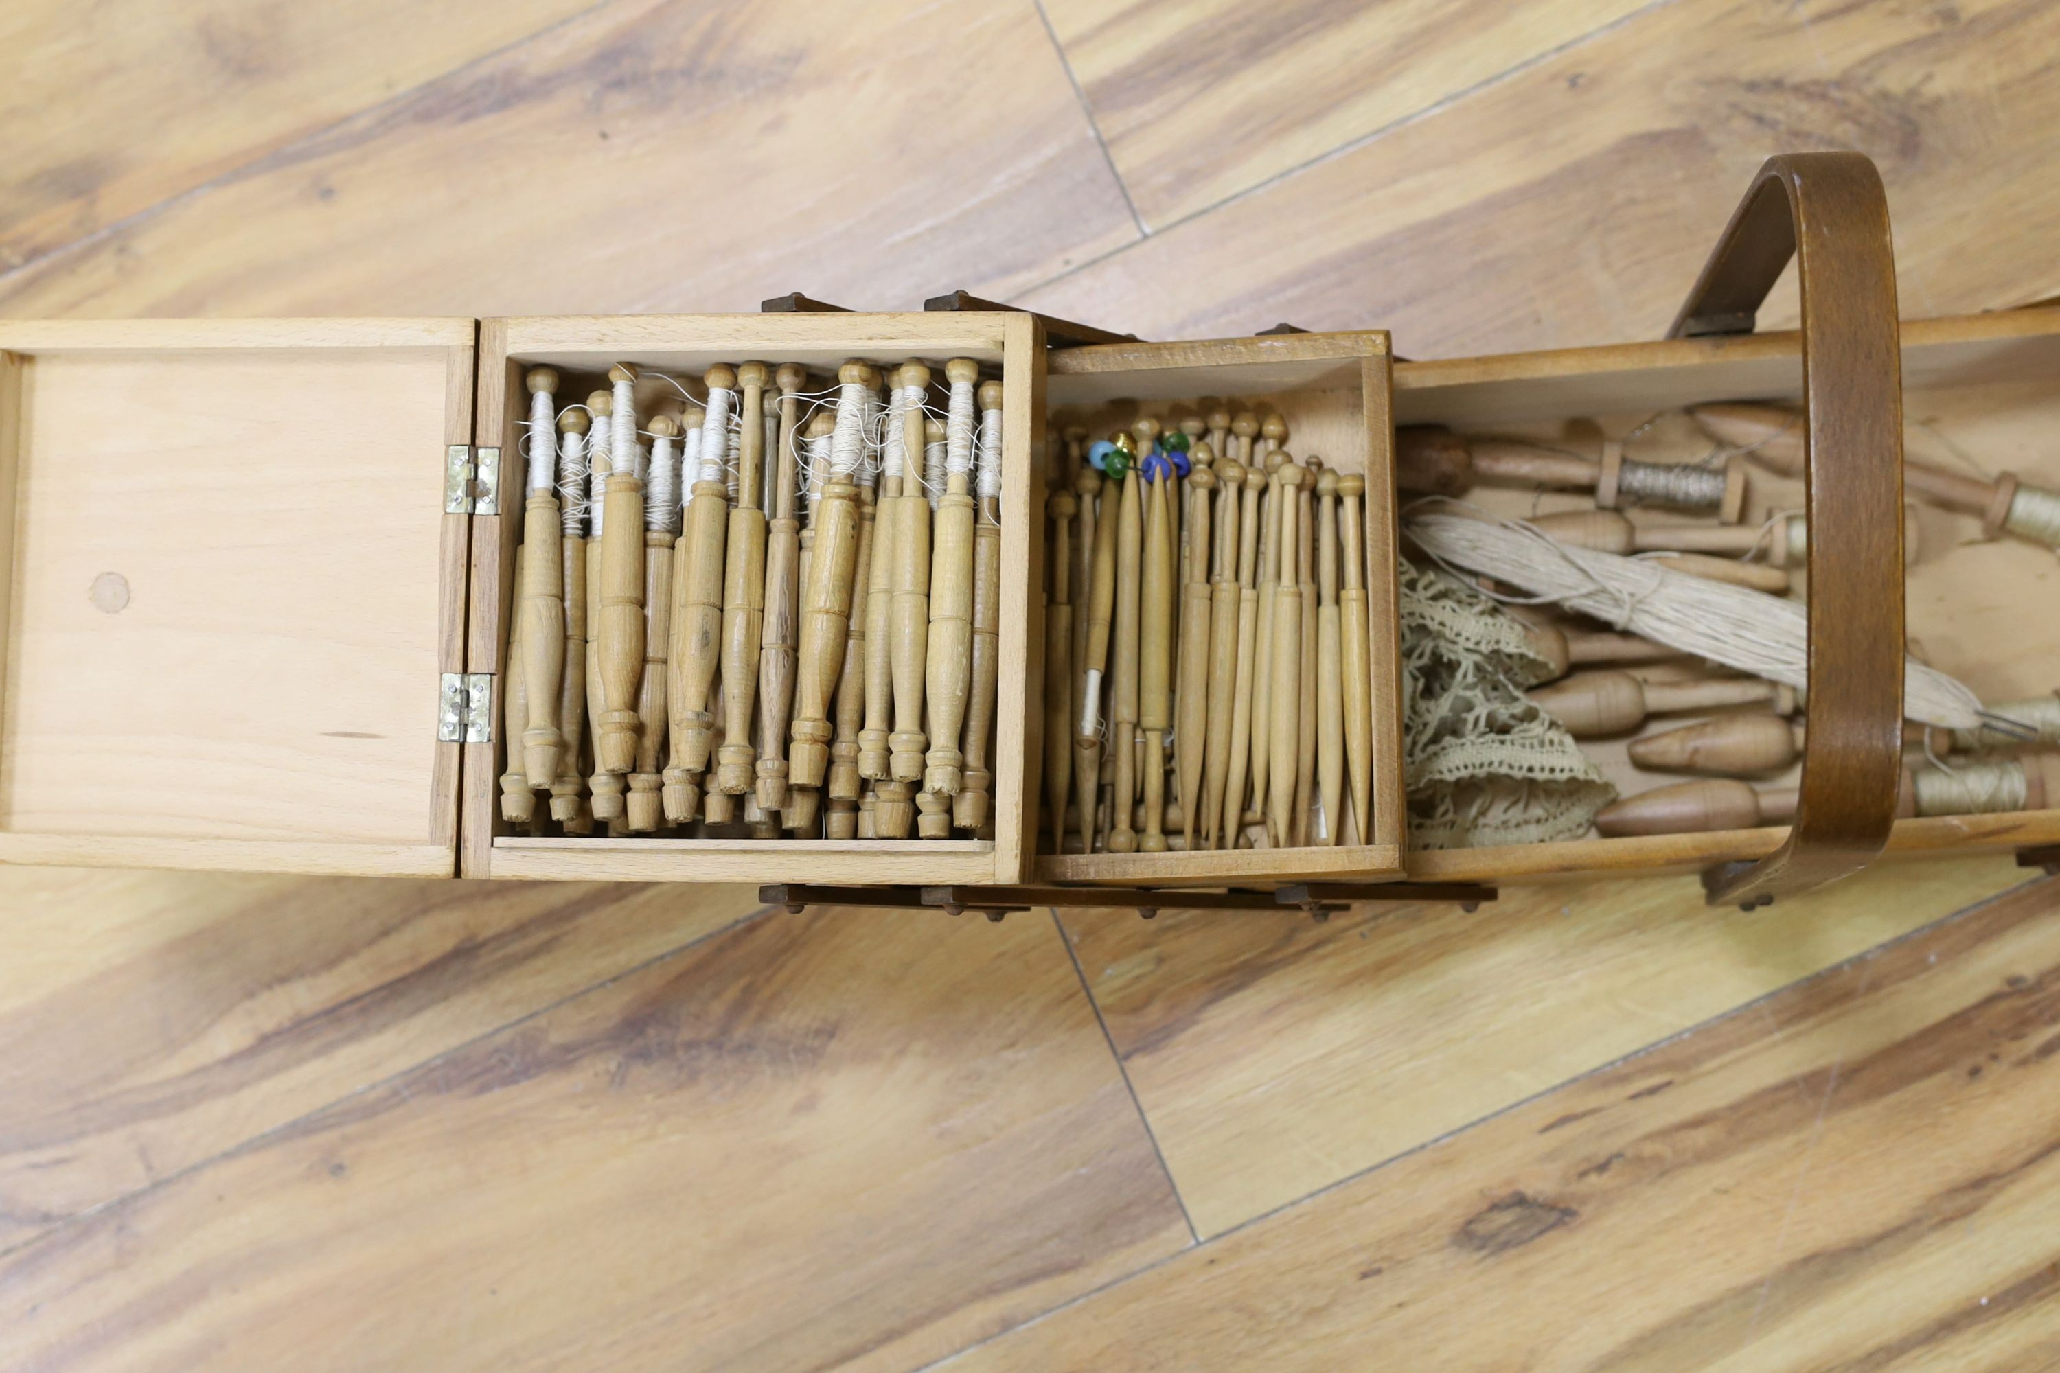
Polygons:
<instances>
[{"instance_id":1,"label":"wooden frame of the smaller middle tray holding slim bobbins","mask_svg":"<svg viewBox=\"0 0 2060 1373\"><path fill-rule=\"evenodd\" d=\"M1395 613L1395 426L1384 331L1283 333L1184 344L1098 344L1051 354L1053 432L1079 424L1094 436L1141 414L1203 397L1288 422L1288 451L1364 473L1366 601L1372 650L1374 803L1362 844L1232 848L1162 854L1038 854L1053 883L1224 885L1399 877L1405 817L1401 679Z\"/></svg>"}]
</instances>

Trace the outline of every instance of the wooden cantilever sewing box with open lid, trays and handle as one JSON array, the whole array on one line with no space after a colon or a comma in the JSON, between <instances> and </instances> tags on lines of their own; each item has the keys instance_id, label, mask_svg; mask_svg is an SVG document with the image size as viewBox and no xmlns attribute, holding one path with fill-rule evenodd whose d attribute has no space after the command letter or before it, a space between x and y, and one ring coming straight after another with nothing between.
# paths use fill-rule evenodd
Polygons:
<instances>
[{"instance_id":1,"label":"wooden cantilever sewing box with open lid, trays and handle","mask_svg":"<svg viewBox=\"0 0 2060 1373\"><path fill-rule=\"evenodd\" d=\"M1800 329L1755 333L1790 257ZM2060 486L2060 307L1899 321L1881 181L1772 159L1664 340L1397 360L1382 331L1084 342L1003 307L564 319L0 321L0 862L754 881L779 900L1265 906L1706 877L1759 902L1879 856L2060 856L2060 811L1893 819L1906 644L1984 700L2060 683L2060 560L1926 511L1903 420ZM970 305L970 309L966 309ZM612 362L999 364L993 840L548 838L499 819L521 375ZM1236 397L1368 476L1374 815L1349 848L1038 854L1046 422ZM1397 671L1397 424L1553 426L1718 399L1807 408L1811 690L1792 828L1411 852ZM1908 630L1906 630L1908 624ZM1596 749L1621 772L1621 743ZM1652 782L1646 782L1652 784Z\"/></svg>"}]
</instances>

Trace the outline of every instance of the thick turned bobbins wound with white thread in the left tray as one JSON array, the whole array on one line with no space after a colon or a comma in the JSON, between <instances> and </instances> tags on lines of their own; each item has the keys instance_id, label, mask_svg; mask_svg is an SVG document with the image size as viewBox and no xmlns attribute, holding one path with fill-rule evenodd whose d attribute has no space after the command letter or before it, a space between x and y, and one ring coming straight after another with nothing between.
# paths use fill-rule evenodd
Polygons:
<instances>
[{"instance_id":1,"label":"thick turned bobbins wound with white thread in the left tray","mask_svg":"<svg viewBox=\"0 0 2060 1373\"><path fill-rule=\"evenodd\" d=\"M1001 383L972 358L606 383L560 410L558 371L525 375L505 823L991 834Z\"/></svg>"}]
</instances>

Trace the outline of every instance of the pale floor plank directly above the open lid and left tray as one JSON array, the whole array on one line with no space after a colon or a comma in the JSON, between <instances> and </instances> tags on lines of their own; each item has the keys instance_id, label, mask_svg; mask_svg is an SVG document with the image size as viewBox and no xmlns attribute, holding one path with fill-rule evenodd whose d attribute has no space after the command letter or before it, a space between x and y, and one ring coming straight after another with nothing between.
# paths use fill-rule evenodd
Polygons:
<instances>
[{"instance_id":1,"label":"pale floor plank directly above the open lid and left tray","mask_svg":"<svg viewBox=\"0 0 2060 1373\"><path fill-rule=\"evenodd\" d=\"M799 270L892 307L1135 235L1028 0L610 0L31 263L0 311L750 311Z\"/></svg>"}]
</instances>

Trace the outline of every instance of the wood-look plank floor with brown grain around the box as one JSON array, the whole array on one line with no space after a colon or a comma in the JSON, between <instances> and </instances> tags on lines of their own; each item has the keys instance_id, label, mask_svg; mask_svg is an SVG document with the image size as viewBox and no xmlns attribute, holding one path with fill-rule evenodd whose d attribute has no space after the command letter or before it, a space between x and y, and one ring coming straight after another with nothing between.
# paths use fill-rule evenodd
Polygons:
<instances>
[{"instance_id":1,"label":"wood-look plank floor with brown grain around the box","mask_svg":"<svg viewBox=\"0 0 2060 1373\"><path fill-rule=\"evenodd\" d=\"M0 313L1588 344L1821 146L1906 311L1980 311L2060 294L2056 54L2048 0L14 0ZM0 1369L2060 1367L2031 877L1316 926L0 871Z\"/></svg>"}]
</instances>

